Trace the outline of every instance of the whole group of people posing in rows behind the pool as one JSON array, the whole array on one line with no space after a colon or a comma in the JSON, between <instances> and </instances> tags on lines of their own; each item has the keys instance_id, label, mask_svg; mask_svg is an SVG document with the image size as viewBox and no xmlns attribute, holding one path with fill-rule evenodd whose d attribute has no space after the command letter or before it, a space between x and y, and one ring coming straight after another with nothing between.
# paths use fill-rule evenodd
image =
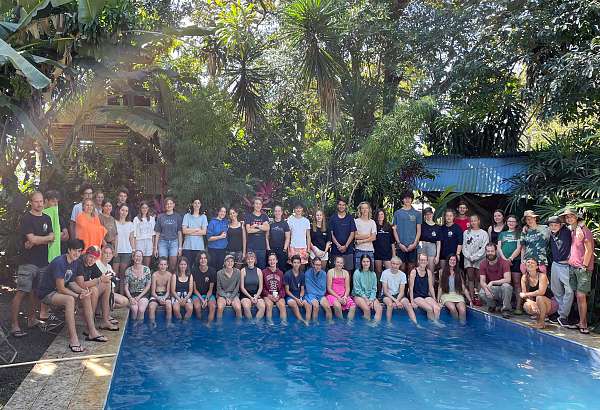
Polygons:
<instances>
[{"instance_id":1,"label":"whole group of people posing in rows behind the pool","mask_svg":"<svg viewBox=\"0 0 600 410\"><path fill-rule=\"evenodd\" d=\"M106 341L100 331L118 330L110 312L126 306L134 320L143 320L147 311L151 323L159 310L168 321L200 318L207 310L212 321L231 306L237 317L267 320L277 307L283 321L289 308L307 324L321 309L327 319L347 312L352 320L357 307L365 318L379 321L385 307L387 320L394 310L405 310L416 324L415 310L422 309L443 326L442 308L464 323L467 305L485 303L490 311L501 304L506 317L525 310L538 327L550 317L588 332L594 243L573 210L550 218L548 226L526 211L522 228L514 215L497 210L485 231L464 202L456 211L445 210L444 223L436 224L431 208L413 207L410 191L391 223L384 209L373 213L367 202L353 217L342 198L329 218L316 210L309 220L296 204L287 218L276 205L270 219L255 198L250 212L220 207L209 221L200 199L182 216L166 198L164 212L154 215L146 202L134 207L124 188L114 202L89 185L80 193L68 224L59 216L57 192L31 196L21 221L15 337L27 334L18 320L27 294L28 326L50 320L49 306L64 307L75 352L84 350L75 331L77 303L86 340L94 342ZM568 321L574 296L577 325Z\"/></svg>"}]
</instances>

